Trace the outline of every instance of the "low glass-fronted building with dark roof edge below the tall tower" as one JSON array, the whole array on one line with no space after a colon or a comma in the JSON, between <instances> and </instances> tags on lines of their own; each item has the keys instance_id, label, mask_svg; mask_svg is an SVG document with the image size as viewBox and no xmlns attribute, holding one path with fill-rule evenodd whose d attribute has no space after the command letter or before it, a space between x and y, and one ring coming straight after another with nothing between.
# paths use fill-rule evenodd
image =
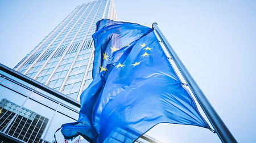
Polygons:
<instances>
[{"instance_id":1,"label":"low glass-fronted building with dark roof edge below the tall tower","mask_svg":"<svg viewBox=\"0 0 256 143\"><path fill-rule=\"evenodd\" d=\"M52 142L61 124L78 119L79 108L72 98L0 64L0 142Z\"/></svg>"}]
</instances>

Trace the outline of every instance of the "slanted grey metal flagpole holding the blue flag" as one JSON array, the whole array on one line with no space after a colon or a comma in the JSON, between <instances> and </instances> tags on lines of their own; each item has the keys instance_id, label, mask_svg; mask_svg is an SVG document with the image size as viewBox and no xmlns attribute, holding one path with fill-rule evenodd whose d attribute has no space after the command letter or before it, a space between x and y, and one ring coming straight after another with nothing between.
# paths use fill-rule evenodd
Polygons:
<instances>
[{"instance_id":1,"label":"slanted grey metal flagpole holding the blue flag","mask_svg":"<svg viewBox=\"0 0 256 143\"><path fill-rule=\"evenodd\" d=\"M232 133L229 131L228 127L226 127L225 123L221 120L220 116L217 112L213 109L212 105L208 101L207 97L205 97L203 91L199 88L196 81L193 79L191 74L188 72L187 68L181 62L180 58L175 53L172 46L167 41L166 37L164 37L163 33L158 28L158 24L153 23L152 28L155 29L156 33L162 40L163 45L166 47L168 53L171 55L172 59L174 60L177 68L183 75L185 81L189 88L192 90L193 94L195 95L197 101L199 102L200 106L202 107L203 111L207 115L210 123L212 124L213 128L217 132L218 137L222 142L237 142Z\"/></svg>"}]
</instances>

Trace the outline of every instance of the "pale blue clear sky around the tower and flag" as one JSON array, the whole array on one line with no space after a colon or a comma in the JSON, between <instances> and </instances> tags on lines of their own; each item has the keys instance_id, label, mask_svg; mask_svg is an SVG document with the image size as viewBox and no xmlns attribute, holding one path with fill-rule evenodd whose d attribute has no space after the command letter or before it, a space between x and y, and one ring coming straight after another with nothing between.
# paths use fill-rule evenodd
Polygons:
<instances>
[{"instance_id":1,"label":"pale blue clear sky around the tower and flag","mask_svg":"<svg viewBox=\"0 0 256 143\"><path fill-rule=\"evenodd\" d=\"M13 68L86 2L1 0L0 63ZM114 0L114 5L120 21L158 23L236 140L256 142L256 1ZM220 142L208 129L189 125L159 124L147 135L162 142Z\"/></svg>"}]
</instances>

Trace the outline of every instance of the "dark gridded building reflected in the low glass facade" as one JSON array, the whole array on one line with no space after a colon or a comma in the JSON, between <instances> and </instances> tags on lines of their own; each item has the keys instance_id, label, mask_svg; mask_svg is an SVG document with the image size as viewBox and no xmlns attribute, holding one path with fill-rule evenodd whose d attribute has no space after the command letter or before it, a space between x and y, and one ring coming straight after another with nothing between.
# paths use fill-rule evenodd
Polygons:
<instances>
[{"instance_id":1,"label":"dark gridded building reflected in the low glass facade","mask_svg":"<svg viewBox=\"0 0 256 143\"><path fill-rule=\"evenodd\" d=\"M23 141L39 142L48 124L48 118L24 107L21 108L6 98L0 101L0 108L1 130L5 129L10 120L14 119L5 132L7 135Z\"/></svg>"}]
</instances>

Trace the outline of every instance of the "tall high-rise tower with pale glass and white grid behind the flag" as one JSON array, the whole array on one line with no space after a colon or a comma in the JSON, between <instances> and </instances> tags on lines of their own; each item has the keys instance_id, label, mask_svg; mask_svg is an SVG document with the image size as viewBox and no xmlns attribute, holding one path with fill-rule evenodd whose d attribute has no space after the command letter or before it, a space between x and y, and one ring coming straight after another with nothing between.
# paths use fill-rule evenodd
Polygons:
<instances>
[{"instance_id":1,"label":"tall high-rise tower with pale glass and white grid behind the flag","mask_svg":"<svg viewBox=\"0 0 256 143\"><path fill-rule=\"evenodd\" d=\"M102 18L117 20L113 0L77 6L14 70L79 100L92 81L92 34Z\"/></svg>"}]
</instances>

